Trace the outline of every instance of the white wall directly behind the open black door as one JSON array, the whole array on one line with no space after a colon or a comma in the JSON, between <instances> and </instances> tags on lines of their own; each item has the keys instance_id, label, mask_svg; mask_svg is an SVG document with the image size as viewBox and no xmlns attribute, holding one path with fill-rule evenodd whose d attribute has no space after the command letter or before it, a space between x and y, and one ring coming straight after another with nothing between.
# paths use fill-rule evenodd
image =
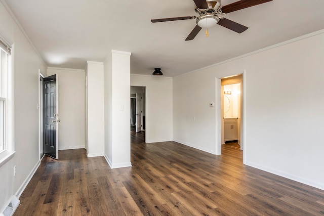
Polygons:
<instances>
[{"instance_id":1,"label":"white wall directly behind the open black door","mask_svg":"<svg viewBox=\"0 0 324 216\"><path fill-rule=\"evenodd\" d=\"M86 146L86 73L84 70L48 68L59 76L59 150Z\"/></svg>"}]
</instances>

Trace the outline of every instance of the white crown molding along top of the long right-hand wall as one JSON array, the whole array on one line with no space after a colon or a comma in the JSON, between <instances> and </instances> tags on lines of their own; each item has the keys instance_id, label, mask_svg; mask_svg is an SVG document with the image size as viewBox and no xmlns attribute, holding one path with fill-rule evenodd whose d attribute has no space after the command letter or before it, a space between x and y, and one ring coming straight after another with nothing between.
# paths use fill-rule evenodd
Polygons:
<instances>
[{"instance_id":1,"label":"white crown molding along top of the long right-hand wall","mask_svg":"<svg viewBox=\"0 0 324 216\"><path fill-rule=\"evenodd\" d=\"M305 35L302 35L302 36L299 36L299 37L295 37L293 39L289 39L289 40L286 40L284 42L279 42L278 44L275 44L275 45L272 45L272 46L269 46L269 47L265 47L265 48L262 48L260 50L256 50L256 51L253 51L253 52L250 52L250 53L247 53L247 54L244 54L244 55L240 55L240 56L237 56L237 57L234 57L234 58L231 58L231 59L227 59L227 60L224 60L222 62L218 62L218 63L212 64L212 65L206 66L206 67L202 67L202 68L199 68L199 69L196 69L196 70L192 70L192 71L189 71L187 73L183 73L183 74L180 74L180 75L177 75L177 76L174 76L174 77L180 77L180 76L184 76L184 75L187 75L187 74L190 74L190 73L195 73L195 72L198 72L198 71L201 71L201 70L205 70L205 69L208 69L208 68L211 68L211 67L215 67L217 65L221 65L221 64L225 64L225 63L228 63L228 62L231 62L231 61L235 61L237 59L241 59L241 58L251 56L251 55L254 55L254 54L257 54L257 53L262 53L263 51L266 51L266 50L271 50L271 49L274 49L274 48L277 48L277 47L281 47L281 46L284 46L284 45L287 45L287 44L291 44L292 42L296 42L298 40L302 40L302 39L312 37L312 36L322 34L322 33L324 33L324 29L319 30L319 31L315 31L315 32L312 32L312 33L309 33L309 34L305 34Z\"/></svg>"}]
</instances>

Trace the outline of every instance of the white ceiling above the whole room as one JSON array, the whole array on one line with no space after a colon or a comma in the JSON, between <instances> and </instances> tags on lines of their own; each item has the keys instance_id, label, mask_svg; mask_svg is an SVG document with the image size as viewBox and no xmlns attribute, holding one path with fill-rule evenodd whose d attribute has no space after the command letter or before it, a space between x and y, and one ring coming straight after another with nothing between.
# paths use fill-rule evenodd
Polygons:
<instances>
[{"instance_id":1,"label":"white ceiling above the whole room","mask_svg":"<svg viewBox=\"0 0 324 216\"><path fill-rule=\"evenodd\" d=\"M185 38L195 20L151 19L196 16L192 0L6 0L49 67L85 69L111 50L131 52L131 73L165 76L206 67L282 41L324 29L323 0L273 0L223 15L248 26L241 34L216 25ZM222 0L222 6L235 0Z\"/></svg>"}]
</instances>

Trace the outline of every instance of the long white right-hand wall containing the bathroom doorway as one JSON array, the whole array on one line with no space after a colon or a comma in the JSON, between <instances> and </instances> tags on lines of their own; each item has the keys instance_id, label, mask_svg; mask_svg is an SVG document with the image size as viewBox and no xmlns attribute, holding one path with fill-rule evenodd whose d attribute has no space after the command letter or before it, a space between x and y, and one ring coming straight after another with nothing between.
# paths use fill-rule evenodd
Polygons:
<instances>
[{"instance_id":1,"label":"long white right-hand wall containing the bathroom doorway","mask_svg":"<svg viewBox=\"0 0 324 216\"><path fill-rule=\"evenodd\" d=\"M215 121L219 112L208 102L215 101L215 77L246 71L244 163L324 189L323 62L320 31L175 77L174 140L214 152L221 115Z\"/></svg>"}]
</instances>

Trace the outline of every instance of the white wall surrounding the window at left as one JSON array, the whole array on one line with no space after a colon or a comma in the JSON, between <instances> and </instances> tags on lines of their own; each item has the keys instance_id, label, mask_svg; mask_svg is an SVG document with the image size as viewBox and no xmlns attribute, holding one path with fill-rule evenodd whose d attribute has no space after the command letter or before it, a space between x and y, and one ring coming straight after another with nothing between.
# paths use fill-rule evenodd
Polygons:
<instances>
[{"instance_id":1,"label":"white wall surrounding the window at left","mask_svg":"<svg viewBox=\"0 0 324 216\"><path fill-rule=\"evenodd\" d=\"M0 210L11 196L18 197L39 165L38 144L38 69L46 75L46 66L15 23L7 6L0 3L0 34L14 44L14 124L15 150L12 159L0 166ZM17 174L13 177L13 166Z\"/></svg>"}]
</instances>

